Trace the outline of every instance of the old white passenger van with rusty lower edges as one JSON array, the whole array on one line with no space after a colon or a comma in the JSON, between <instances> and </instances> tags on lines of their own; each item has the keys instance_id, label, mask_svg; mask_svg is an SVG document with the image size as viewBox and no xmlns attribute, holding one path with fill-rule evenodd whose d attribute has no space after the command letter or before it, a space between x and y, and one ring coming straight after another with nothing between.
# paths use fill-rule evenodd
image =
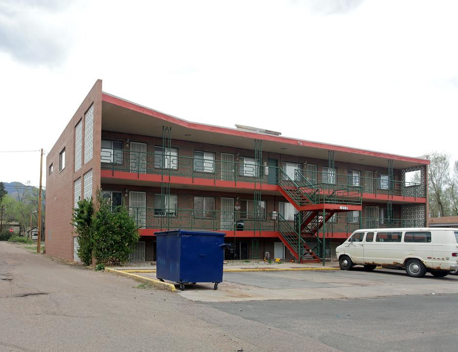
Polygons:
<instances>
[{"instance_id":1,"label":"old white passenger van with rusty lower edges","mask_svg":"<svg viewBox=\"0 0 458 352\"><path fill-rule=\"evenodd\" d=\"M458 269L458 229L388 228L357 230L336 248L342 270L364 265L404 268L407 275L444 277Z\"/></svg>"}]
</instances>

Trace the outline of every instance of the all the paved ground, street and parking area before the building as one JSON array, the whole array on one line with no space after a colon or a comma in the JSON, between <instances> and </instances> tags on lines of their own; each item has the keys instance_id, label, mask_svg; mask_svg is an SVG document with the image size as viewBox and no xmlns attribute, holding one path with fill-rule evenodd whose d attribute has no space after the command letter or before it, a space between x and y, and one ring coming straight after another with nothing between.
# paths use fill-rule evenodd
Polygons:
<instances>
[{"instance_id":1,"label":"all the paved ground, street and parking area before the building","mask_svg":"<svg viewBox=\"0 0 458 352\"><path fill-rule=\"evenodd\" d=\"M224 279L217 291L208 284L183 292L143 289L130 278L0 242L0 351L455 352L458 346L456 277L413 279L377 269ZM186 297L195 292L208 302ZM385 297L307 296L313 292Z\"/></svg>"}]
</instances>

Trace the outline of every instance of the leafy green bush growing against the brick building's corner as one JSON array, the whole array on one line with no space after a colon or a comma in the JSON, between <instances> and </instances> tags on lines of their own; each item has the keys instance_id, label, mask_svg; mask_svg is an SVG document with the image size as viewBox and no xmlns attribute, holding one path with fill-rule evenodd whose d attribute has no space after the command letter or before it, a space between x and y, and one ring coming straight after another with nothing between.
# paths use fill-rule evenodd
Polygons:
<instances>
[{"instance_id":1,"label":"leafy green bush growing against the brick building's corner","mask_svg":"<svg viewBox=\"0 0 458 352\"><path fill-rule=\"evenodd\" d=\"M72 225L78 233L78 256L87 265L92 257L97 264L119 264L129 259L131 246L138 241L138 226L123 206L111 209L100 191L96 195L97 210L93 212L92 198L78 202Z\"/></svg>"}]
</instances>

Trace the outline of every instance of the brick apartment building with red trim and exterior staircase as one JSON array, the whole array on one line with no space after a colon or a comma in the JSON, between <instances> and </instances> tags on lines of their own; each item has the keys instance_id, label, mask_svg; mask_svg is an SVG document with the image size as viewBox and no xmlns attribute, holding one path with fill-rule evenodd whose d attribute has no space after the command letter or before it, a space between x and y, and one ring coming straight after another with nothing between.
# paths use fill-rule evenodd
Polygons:
<instances>
[{"instance_id":1,"label":"brick apartment building with red trim and exterior staircase","mask_svg":"<svg viewBox=\"0 0 458 352\"><path fill-rule=\"evenodd\" d=\"M426 158L236 127L188 122L97 81L46 159L46 253L77 259L72 209L97 189L141 228L132 261L155 261L154 232L177 228L226 233L226 260L318 261L358 228L426 226Z\"/></svg>"}]
</instances>

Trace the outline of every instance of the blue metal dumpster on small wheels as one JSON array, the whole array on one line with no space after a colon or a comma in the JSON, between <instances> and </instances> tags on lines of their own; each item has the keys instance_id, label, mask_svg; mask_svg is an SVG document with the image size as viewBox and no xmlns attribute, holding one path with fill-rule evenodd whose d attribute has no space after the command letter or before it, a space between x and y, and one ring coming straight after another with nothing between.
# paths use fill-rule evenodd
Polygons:
<instances>
[{"instance_id":1,"label":"blue metal dumpster on small wheels","mask_svg":"<svg viewBox=\"0 0 458 352\"><path fill-rule=\"evenodd\" d=\"M173 230L155 232L156 277L185 283L222 282L225 233L215 231Z\"/></svg>"}]
</instances>

